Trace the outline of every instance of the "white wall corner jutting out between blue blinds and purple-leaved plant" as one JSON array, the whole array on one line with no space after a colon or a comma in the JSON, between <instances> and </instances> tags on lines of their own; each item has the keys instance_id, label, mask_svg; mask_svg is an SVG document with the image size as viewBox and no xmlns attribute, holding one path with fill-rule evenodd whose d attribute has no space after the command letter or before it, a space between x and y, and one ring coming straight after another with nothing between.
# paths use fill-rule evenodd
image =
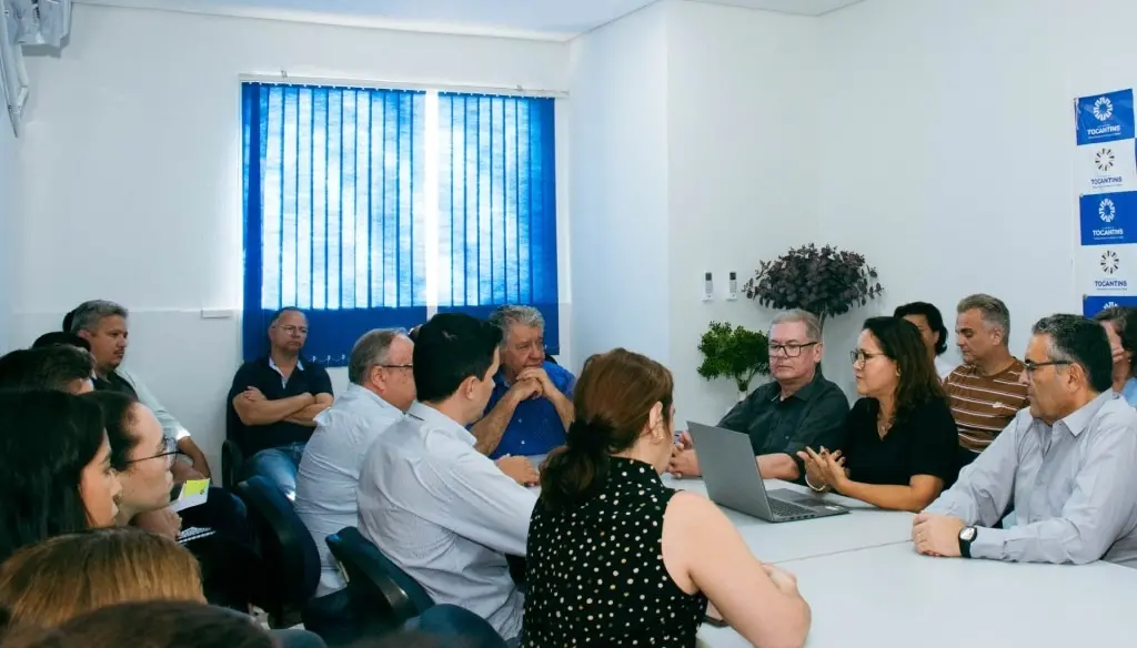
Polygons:
<instances>
[{"instance_id":1,"label":"white wall corner jutting out between blue blinds and purple-leaved plant","mask_svg":"<svg viewBox=\"0 0 1137 648\"><path fill-rule=\"evenodd\" d=\"M573 43L576 358L625 346L666 364L681 425L737 394L695 372L707 324L769 326L724 301L728 273L741 285L815 234L815 34L810 18L665 1Z\"/></svg>"}]
</instances>

